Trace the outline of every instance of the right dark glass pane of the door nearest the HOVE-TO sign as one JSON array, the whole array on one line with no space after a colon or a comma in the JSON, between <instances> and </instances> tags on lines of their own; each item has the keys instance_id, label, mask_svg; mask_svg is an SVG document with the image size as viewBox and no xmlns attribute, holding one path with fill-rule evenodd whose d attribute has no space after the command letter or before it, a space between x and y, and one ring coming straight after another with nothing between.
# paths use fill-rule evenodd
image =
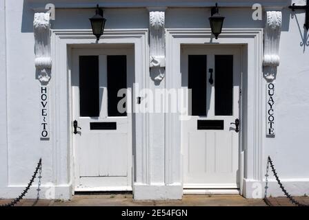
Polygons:
<instances>
[{"instance_id":1,"label":"right dark glass pane of the door nearest the HOVE-TO sign","mask_svg":"<svg viewBox=\"0 0 309 220\"><path fill-rule=\"evenodd\" d=\"M108 56L108 116L126 116L118 111L119 89L127 88L127 58L126 56ZM126 107L125 107L126 108Z\"/></svg>"}]
</instances>

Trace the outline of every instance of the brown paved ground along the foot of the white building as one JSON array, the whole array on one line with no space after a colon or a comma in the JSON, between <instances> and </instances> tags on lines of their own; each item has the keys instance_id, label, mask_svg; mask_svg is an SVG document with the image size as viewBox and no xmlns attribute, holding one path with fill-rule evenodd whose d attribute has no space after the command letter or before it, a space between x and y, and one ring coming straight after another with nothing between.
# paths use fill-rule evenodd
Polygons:
<instances>
[{"instance_id":1,"label":"brown paved ground along the foot of the white building","mask_svg":"<svg viewBox=\"0 0 309 220\"><path fill-rule=\"evenodd\" d=\"M297 197L309 204L309 197ZM288 199L270 198L272 206L292 206ZM10 200L0 200L0 205ZM22 200L17 206L266 206L261 199L245 199L240 195L186 195L177 201L133 201L132 195L75 195L71 201Z\"/></svg>"}]
</instances>

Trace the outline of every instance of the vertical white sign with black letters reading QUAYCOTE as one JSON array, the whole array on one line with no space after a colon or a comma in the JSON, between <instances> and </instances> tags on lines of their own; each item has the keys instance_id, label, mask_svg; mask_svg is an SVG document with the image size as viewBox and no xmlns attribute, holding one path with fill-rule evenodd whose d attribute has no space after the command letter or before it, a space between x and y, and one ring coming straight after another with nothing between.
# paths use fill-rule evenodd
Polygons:
<instances>
[{"instance_id":1,"label":"vertical white sign with black letters reading QUAYCOTE","mask_svg":"<svg viewBox=\"0 0 309 220\"><path fill-rule=\"evenodd\" d=\"M275 137L275 83L266 83L266 136Z\"/></svg>"}]
</instances>

